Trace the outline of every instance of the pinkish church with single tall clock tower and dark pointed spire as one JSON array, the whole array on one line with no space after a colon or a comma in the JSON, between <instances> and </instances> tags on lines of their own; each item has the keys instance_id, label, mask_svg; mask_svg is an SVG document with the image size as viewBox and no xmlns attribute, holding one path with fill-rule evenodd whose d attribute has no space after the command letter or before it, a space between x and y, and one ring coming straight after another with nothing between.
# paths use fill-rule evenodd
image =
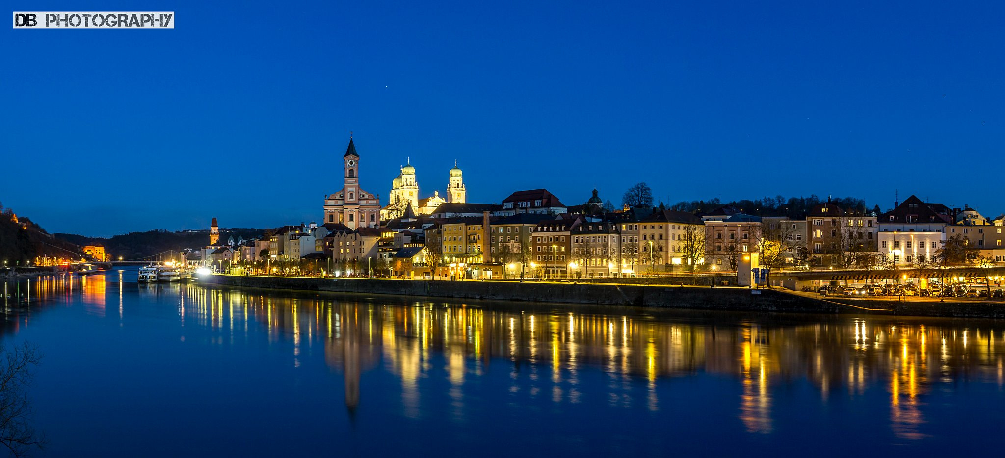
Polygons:
<instances>
[{"instance_id":1,"label":"pinkish church with single tall clock tower and dark pointed spire","mask_svg":"<svg viewBox=\"0 0 1005 458\"><path fill-rule=\"evenodd\" d=\"M325 223L342 223L352 229L380 227L380 200L360 188L360 155L356 153L353 138L342 157L343 187L325 197Z\"/></svg>"}]
</instances>

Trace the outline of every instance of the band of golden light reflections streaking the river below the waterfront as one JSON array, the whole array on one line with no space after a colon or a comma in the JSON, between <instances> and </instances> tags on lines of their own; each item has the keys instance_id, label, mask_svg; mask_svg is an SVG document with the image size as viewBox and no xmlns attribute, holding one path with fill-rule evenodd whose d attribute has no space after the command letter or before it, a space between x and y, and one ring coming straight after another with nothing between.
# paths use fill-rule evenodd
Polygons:
<instances>
[{"instance_id":1,"label":"band of golden light reflections streaking the river below the waterfront","mask_svg":"<svg viewBox=\"0 0 1005 458\"><path fill-rule=\"evenodd\" d=\"M411 420L441 412L456 426L497 415L496 403L529 416L589 403L598 414L659 419L679 416L681 392L696 390L734 406L733 418L717 424L736 422L741 432L724 434L748 435L737 436L744 440L781 440L791 417L830 415L827 406L840 399L835 406L855 406L846 420L857 411L884 412L885 421L872 420L885 425L883 443L924 443L952 434L928 428L933 421L965 421L933 403L1002 404L1005 326L994 321L274 293L130 283L134 273L22 282L28 291L19 291L33 297L28 306L7 305L6 330L16 334L33 314L76 304L128 325L136 307L170 302L176 313L161 325L196 329L182 340L198 335L207 348L231 349L265 341L288 349L294 370L323 361L341 374L350 419L368 408ZM118 307L110 310L112 300ZM369 373L393 376L393 390L368 386ZM711 383L724 379L735 388ZM680 384L685 380L700 384ZM494 391L486 392L487 384ZM800 385L811 387L810 395L794 388ZM985 399L963 399L968 386L995 389L980 395Z\"/></svg>"}]
</instances>

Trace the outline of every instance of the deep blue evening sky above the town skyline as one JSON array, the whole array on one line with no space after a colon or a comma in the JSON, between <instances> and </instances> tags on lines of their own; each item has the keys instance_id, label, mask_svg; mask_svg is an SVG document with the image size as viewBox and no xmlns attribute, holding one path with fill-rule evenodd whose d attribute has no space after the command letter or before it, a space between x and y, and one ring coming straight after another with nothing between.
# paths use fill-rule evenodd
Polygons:
<instances>
[{"instance_id":1,"label":"deep blue evening sky above the town skyline","mask_svg":"<svg viewBox=\"0 0 1005 458\"><path fill-rule=\"evenodd\" d=\"M50 232L320 220L355 132L386 198L457 159L468 200L894 190L985 214L999 2L79 2L174 30L0 34L0 201Z\"/></svg>"}]
</instances>

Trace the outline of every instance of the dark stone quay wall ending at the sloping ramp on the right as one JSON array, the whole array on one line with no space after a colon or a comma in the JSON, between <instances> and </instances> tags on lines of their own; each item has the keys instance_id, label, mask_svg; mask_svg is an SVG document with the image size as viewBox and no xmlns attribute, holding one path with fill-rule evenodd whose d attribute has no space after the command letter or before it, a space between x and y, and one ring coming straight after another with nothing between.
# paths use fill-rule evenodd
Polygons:
<instances>
[{"instance_id":1,"label":"dark stone quay wall ending at the sloping ramp on the right","mask_svg":"<svg viewBox=\"0 0 1005 458\"><path fill-rule=\"evenodd\" d=\"M775 290L512 281L300 278L213 274L199 282L236 287L724 310L834 313L840 305Z\"/></svg>"}]
</instances>

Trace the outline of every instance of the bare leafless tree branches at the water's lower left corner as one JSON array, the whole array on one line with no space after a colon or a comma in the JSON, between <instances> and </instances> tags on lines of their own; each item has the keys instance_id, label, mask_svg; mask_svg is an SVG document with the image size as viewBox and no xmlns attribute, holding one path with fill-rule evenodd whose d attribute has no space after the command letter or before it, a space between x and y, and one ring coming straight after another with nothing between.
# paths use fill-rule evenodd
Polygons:
<instances>
[{"instance_id":1,"label":"bare leafless tree branches at the water's lower left corner","mask_svg":"<svg viewBox=\"0 0 1005 458\"><path fill-rule=\"evenodd\" d=\"M42 356L29 343L13 350L0 346L0 444L11 455L24 456L32 447L45 445L45 438L31 426L31 403L25 393Z\"/></svg>"}]
</instances>

